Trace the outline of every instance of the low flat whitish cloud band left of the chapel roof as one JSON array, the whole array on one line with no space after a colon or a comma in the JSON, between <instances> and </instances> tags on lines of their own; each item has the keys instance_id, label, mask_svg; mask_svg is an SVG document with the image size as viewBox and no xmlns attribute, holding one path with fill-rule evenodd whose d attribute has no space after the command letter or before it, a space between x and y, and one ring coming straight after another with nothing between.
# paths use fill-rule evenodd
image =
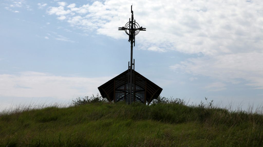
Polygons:
<instances>
[{"instance_id":1,"label":"low flat whitish cloud band left of the chapel roof","mask_svg":"<svg viewBox=\"0 0 263 147\"><path fill-rule=\"evenodd\" d=\"M72 97L92 95L98 92L97 87L112 77L67 77L55 76L41 72L21 72L17 75L1 74L0 98L50 97L68 100Z\"/></svg>"}]
</instances>

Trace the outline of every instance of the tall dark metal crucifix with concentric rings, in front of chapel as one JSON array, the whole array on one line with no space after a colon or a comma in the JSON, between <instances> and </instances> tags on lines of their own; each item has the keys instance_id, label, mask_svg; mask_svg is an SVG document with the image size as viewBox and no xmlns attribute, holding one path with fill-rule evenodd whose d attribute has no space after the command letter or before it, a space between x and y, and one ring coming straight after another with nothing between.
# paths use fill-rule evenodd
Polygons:
<instances>
[{"instance_id":1,"label":"tall dark metal crucifix with concentric rings, in front of chapel","mask_svg":"<svg viewBox=\"0 0 263 147\"><path fill-rule=\"evenodd\" d=\"M133 10L131 5L131 19L125 25L125 27L119 27L119 30L124 30L127 35L129 35L129 42L131 43L131 61L128 63L128 85L129 85L129 93L130 97L127 101L128 104L131 104L131 99L133 98L133 94L135 89L132 90L132 66L134 70L134 62L133 62L133 46L135 46L135 35L137 35L140 31L146 31L146 28L140 27L140 25L133 19Z\"/></svg>"}]
</instances>

